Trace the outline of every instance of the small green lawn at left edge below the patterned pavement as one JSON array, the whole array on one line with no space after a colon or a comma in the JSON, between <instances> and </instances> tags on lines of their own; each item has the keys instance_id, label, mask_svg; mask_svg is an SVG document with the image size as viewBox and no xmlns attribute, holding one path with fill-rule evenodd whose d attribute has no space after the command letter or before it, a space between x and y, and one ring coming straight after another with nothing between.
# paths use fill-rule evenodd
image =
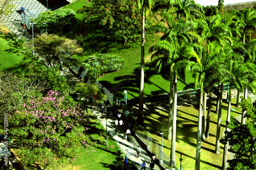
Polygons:
<instances>
[{"instance_id":1,"label":"small green lawn at left edge below the patterned pavement","mask_svg":"<svg viewBox=\"0 0 256 170\"><path fill-rule=\"evenodd\" d=\"M8 39L10 40L8 41ZM4 71L17 67L24 57L22 50L11 42L15 42L15 40L13 40L9 34L0 35L0 69Z\"/></svg>"}]
</instances>

